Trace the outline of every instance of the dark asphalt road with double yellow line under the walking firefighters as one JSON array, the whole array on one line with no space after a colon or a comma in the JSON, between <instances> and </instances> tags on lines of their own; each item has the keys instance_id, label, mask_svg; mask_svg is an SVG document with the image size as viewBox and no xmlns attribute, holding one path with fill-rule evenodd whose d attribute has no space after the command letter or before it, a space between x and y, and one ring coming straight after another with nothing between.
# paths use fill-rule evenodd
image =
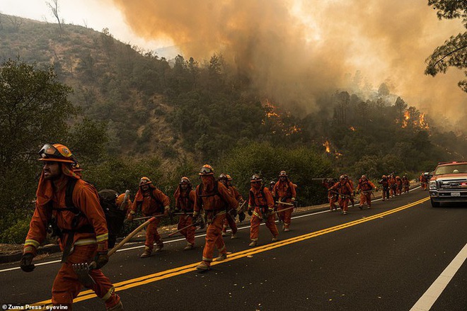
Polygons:
<instances>
[{"instance_id":1,"label":"dark asphalt road with double yellow line under the walking firefighters","mask_svg":"<svg viewBox=\"0 0 467 311\"><path fill-rule=\"evenodd\" d=\"M148 259L139 259L141 244L131 245L103 271L125 310L410 310L422 297L426 303L427 289L466 246L467 205L432 208L418 188L369 210L300 215L279 242L262 226L250 248L248 234L227 238L228 259L205 273L195 269L204 237L190 251L167 239ZM0 304L50 302L59 264L32 273L9 270L15 266L0 266ZM431 310L467 310L467 263L450 273ZM90 291L74 303L74 310L103 309Z\"/></svg>"}]
</instances>

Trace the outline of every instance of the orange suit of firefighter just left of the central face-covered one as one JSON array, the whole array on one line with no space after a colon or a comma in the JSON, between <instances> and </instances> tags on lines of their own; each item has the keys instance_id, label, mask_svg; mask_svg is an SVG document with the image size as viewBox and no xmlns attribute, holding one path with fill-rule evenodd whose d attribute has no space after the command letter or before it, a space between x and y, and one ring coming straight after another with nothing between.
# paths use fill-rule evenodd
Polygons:
<instances>
[{"instance_id":1,"label":"orange suit of firefighter just left of the central face-covered one","mask_svg":"<svg viewBox=\"0 0 467 311\"><path fill-rule=\"evenodd\" d=\"M173 196L175 197L175 210L181 210L183 213L193 212L193 208L195 206L195 191L192 190L191 185L185 191L178 186ZM179 215L177 230L192 225L192 220L192 215ZM195 244L195 230L196 228L191 226L180 231L180 233L185 237L185 239L187 239L188 243Z\"/></svg>"}]
</instances>

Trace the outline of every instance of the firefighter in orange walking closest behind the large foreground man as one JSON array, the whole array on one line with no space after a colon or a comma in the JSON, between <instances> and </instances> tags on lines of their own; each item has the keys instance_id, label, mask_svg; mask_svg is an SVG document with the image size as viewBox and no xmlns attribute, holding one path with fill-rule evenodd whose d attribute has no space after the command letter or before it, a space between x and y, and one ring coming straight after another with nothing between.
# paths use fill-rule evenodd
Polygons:
<instances>
[{"instance_id":1,"label":"firefighter in orange walking closest behind the large foreground man","mask_svg":"<svg viewBox=\"0 0 467 311\"><path fill-rule=\"evenodd\" d=\"M156 188L149 178L142 177L139 180L139 189L136 196L134 196L132 210L129 212L127 219L132 221L138 208L141 208L144 216L168 215L170 203L168 196ZM157 232L160 219L160 217L156 218L146 227L146 242L144 242L144 252L141 254L141 258L151 256L154 242L156 242L156 251L161 251L163 247L161 236Z\"/></svg>"}]
</instances>

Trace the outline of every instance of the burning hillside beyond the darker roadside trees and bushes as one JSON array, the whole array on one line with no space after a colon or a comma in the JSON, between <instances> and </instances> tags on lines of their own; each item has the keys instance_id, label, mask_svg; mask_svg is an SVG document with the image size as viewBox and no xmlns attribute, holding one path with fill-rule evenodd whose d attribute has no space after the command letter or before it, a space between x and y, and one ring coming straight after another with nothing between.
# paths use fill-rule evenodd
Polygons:
<instances>
[{"instance_id":1,"label":"burning hillside beyond the darker roadside trees and bushes","mask_svg":"<svg viewBox=\"0 0 467 311\"><path fill-rule=\"evenodd\" d=\"M408 171L466 154L465 132L438 132L429 116L384 85L371 96L336 90L318 100L316 112L298 118L255 94L248 77L220 55L205 64L181 56L169 62L120 43L107 29L59 28L6 15L0 15L0 44L2 61L19 57L38 68L52 66L74 89L71 103L91 120L105 121L110 154L214 160L233 147L266 141L318 152L328 147L346 169L377 162Z\"/></svg>"}]
</instances>

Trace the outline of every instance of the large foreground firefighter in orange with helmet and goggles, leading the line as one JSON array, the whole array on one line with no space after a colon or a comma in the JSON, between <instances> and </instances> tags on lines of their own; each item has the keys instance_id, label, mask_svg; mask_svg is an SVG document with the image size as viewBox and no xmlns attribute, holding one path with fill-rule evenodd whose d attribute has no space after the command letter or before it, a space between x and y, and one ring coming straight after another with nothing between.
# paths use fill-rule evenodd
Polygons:
<instances>
[{"instance_id":1,"label":"large foreground firefighter in orange with helmet and goggles, leading the line","mask_svg":"<svg viewBox=\"0 0 467 311\"><path fill-rule=\"evenodd\" d=\"M89 271L95 283L88 288L104 300L107 310L123 310L115 288L100 271L108 262L108 230L96 188L73 172L75 161L64 145L44 145L40 157L44 166L24 243L21 269L34 270L33 257L45 240L47 225L52 225L63 251L62 266L52 285L52 304L71 310L73 299L83 287L72 265L95 261L96 268Z\"/></svg>"}]
</instances>

